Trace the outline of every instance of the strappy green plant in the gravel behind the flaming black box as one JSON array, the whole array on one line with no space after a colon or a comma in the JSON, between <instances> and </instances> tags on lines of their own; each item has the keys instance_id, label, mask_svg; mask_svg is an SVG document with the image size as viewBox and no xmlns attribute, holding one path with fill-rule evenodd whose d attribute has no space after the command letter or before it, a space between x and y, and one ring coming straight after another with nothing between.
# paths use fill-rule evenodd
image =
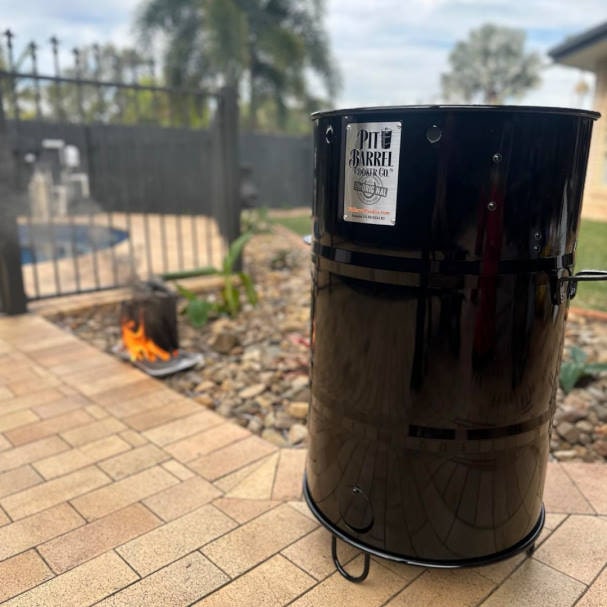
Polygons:
<instances>
[{"instance_id":1,"label":"strappy green plant in the gravel behind the flaming black box","mask_svg":"<svg viewBox=\"0 0 607 607\"><path fill-rule=\"evenodd\" d=\"M235 272L236 263L240 259L245 245L253 235L253 232L245 232L232 242L226 256L223 258L221 269L214 269L209 272L208 268L204 268L205 274L219 274L223 278L220 301L211 301L200 297L190 289L176 283L177 291L186 300L186 305L181 313L187 316L193 326L202 327L211 314L236 316L240 311L241 288L244 289L247 301L251 305L257 303L257 292L251 276L246 272Z\"/></svg>"}]
</instances>

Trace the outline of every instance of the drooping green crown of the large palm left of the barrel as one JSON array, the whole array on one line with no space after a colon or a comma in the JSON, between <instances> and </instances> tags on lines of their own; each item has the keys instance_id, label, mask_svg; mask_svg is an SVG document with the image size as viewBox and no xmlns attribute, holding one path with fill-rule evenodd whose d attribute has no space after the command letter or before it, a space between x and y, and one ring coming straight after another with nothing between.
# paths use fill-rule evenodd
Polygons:
<instances>
[{"instance_id":1,"label":"drooping green crown of the large palm left of the barrel","mask_svg":"<svg viewBox=\"0 0 607 607\"><path fill-rule=\"evenodd\" d=\"M287 123L289 107L308 104L308 69L335 95L339 76L322 16L322 0L147 0L137 28L148 45L159 36L166 40L170 84L246 83L253 129L269 101L280 126Z\"/></svg>"}]
</instances>

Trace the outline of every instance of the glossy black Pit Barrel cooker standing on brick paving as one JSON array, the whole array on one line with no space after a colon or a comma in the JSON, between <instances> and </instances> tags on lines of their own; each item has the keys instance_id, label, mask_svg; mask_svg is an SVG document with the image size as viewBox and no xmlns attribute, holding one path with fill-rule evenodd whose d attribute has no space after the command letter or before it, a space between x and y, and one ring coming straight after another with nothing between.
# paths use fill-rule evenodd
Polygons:
<instances>
[{"instance_id":1,"label":"glossy black Pit Barrel cooker standing on brick paving","mask_svg":"<svg viewBox=\"0 0 607 607\"><path fill-rule=\"evenodd\" d=\"M304 495L360 582L376 555L476 566L532 550L590 111L383 107L314 119ZM345 571L337 539L363 551Z\"/></svg>"}]
</instances>

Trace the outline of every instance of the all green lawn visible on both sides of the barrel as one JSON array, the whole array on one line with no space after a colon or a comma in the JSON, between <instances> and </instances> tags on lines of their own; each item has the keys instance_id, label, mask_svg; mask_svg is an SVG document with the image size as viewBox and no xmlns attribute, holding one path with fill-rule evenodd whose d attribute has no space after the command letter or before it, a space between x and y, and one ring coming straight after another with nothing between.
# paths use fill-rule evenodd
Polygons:
<instances>
[{"instance_id":1,"label":"all green lawn visible on both sides of the barrel","mask_svg":"<svg viewBox=\"0 0 607 607\"><path fill-rule=\"evenodd\" d=\"M273 216L271 221L289 228L300 236L312 232L312 222L309 212L302 215ZM607 223L582 220L578 238L578 248L575 260L576 270L607 269ZM578 308L592 308L607 311L607 281L603 282L580 282L573 305Z\"/></svg>"}]
</instances>

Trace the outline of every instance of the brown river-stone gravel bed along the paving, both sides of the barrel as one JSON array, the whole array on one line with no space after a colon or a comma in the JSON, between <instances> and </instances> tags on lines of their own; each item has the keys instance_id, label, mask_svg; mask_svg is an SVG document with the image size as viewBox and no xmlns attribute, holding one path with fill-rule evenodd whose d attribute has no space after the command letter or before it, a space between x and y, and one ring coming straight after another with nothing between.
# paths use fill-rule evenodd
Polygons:
<instances>
[{"instance_id":1,"label":"brown river-stone gravel bed along the paving, both sides of the barrel","mask_svg":"<svg viewBox=\"0 0 607 607\"><path fill-rule=\"evenodd\" d=\"M201 329L180 317L180 348L202 353L204 361L163 380L280 446L302 447L307 441L309 255L309 248L287 230L256 236L245 250L245 266L257 286L259 304L244 306L233 319L213 319ZM112 352L120 341L119 307L49 318ZM607 322L571 314L565 357L574 345L589 361L605 360ZM607 374L568 395L559 388L550 449L560 461L607 460Z\"/></svg>"}]
</instances>

